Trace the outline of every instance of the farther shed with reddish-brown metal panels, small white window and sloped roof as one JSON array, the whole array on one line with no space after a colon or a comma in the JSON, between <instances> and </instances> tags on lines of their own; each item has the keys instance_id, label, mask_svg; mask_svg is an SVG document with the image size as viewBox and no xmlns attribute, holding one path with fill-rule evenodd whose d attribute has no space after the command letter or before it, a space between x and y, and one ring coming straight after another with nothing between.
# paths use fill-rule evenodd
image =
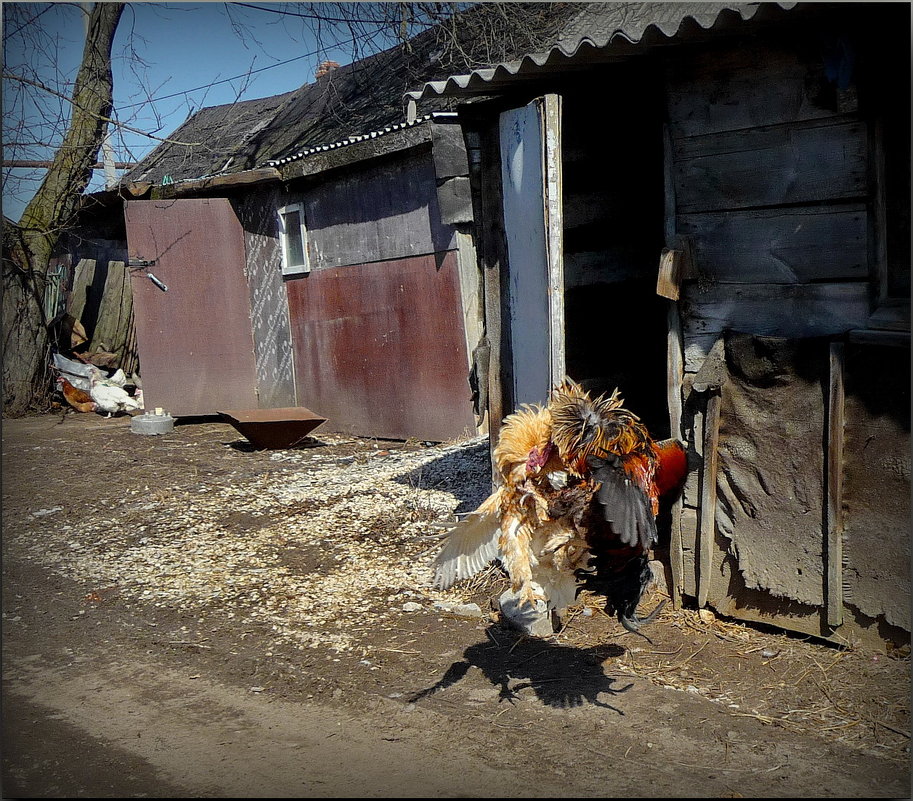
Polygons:
<instances>
[{"instance_id":1,"label":"farther shed with reddish-brown metal panels, small white window and sloped roof","mask_svg":"<svg viewBox=\"0 0 913 801\"><path fill-rule=\"evenodd\" d=\"M441 74L433 44L202 109L95 198L123 207L147 405L305 406L323 430L399 439L477 433L462 133L447 102L403 118L408 76Z\"/></svg>"}]
</instances>

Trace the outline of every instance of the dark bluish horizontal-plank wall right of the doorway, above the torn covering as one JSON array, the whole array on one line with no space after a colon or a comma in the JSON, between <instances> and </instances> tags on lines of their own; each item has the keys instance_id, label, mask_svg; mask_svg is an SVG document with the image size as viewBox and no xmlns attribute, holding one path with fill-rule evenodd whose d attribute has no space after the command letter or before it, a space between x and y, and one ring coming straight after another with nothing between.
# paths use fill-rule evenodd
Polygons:
<instances>
[{"instance_id":1,"label":"dark bluish horizontal-plank wall right of the doorway, above the torn covering","mask_svg":"<svg viewBox=\"0 0 913 801\"><path fill-rule=\"evenodd\" d=\"M726 328L817 336L870 313L868 128L829 106L809 44L707 49L669 70L675 228L697 280L686 369Z\"/></svg>"}]
</instances>

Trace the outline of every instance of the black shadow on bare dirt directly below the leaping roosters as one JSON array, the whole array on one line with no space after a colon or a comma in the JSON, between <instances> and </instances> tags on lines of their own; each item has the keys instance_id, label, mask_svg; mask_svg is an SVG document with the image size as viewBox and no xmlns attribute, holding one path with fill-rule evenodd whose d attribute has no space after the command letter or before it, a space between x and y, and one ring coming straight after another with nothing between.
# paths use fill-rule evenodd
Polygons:
<instances>
[{"instance_id":1,"label":"black shadow on bare dirt directly below the leaping roosters","mask_svg":"<svg viewBox=\"0 0 913 801\"><path fill-rule=\"evenodd\" d=\"M413 693L409 700L415 703L445 690L477 667L500 688L499 703L514 703L521 690L531 689L547 706L568 709L592 704L625 714L599 698L603 694L619 695L633 686L616 687L616 679L606 676L602 669L605 659L624 653L620 646L575 648L530 638L498 624L489 626L486 633L488 640L470 645L463 651L462 661L454 662L435 684Z\"/></svg>"}]
</instances>

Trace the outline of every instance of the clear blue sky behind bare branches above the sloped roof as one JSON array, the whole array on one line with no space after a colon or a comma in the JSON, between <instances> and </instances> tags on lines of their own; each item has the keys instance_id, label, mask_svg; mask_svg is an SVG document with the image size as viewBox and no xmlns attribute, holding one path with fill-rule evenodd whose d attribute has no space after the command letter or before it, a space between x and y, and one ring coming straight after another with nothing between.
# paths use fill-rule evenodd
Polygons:
<instances>
[{"instance_id":1,"label":"clear blue sky behind bare branches above the sloped roof","mask_svg":"<svg viewBox=\"0 0 913 801\"><path fill-rule=\"evenodd\" d=\"M83 13L73 3L21 3L31 24L41 27L49 51L35 65L34 47L19 36L5 42L5 69L22 71L31 60L33 74L47 85L64 87L76 75L84 42ZM51 8L46 8L51 6ZM226 6L231 6L227 9ZM347 64L353 60L345 29L329 29L326 24L316 34L313 19L282 15L280 10L305 9L294 3L254 0L244 3L128 3L118 26L112 52L114 96L117 119L159 137L166 137L192 111L203 106L266 97L296 89L313 81L317 65L326 59ZM5 19L4 37L16 31L17 24ZM384 44L390 46L392 42ZM50 52L55 51L55 52ZM366 55L367 53L363 53ZM4 80L4 158L47 158L40 148L16 152L9 145L15 140L10 120L27 112L10 108L13 102L9 82ZM68 92L67 92L68 94ZM148 98L151 96L152 102ZM33 139L35 137L32 137ZM48 137L45 137L48 138ZM127 130L114 134L118 161L142 158L158 141ZM47 151L46 151L47 152ZM22 209L37 187L41 172L16 170L14 180L6 180L4 170L3 213L18 220ZM31 178L31 180L29 180ZM96 171L90 189L103 187L103 174Z\"/></svg>"}]
</instances>

